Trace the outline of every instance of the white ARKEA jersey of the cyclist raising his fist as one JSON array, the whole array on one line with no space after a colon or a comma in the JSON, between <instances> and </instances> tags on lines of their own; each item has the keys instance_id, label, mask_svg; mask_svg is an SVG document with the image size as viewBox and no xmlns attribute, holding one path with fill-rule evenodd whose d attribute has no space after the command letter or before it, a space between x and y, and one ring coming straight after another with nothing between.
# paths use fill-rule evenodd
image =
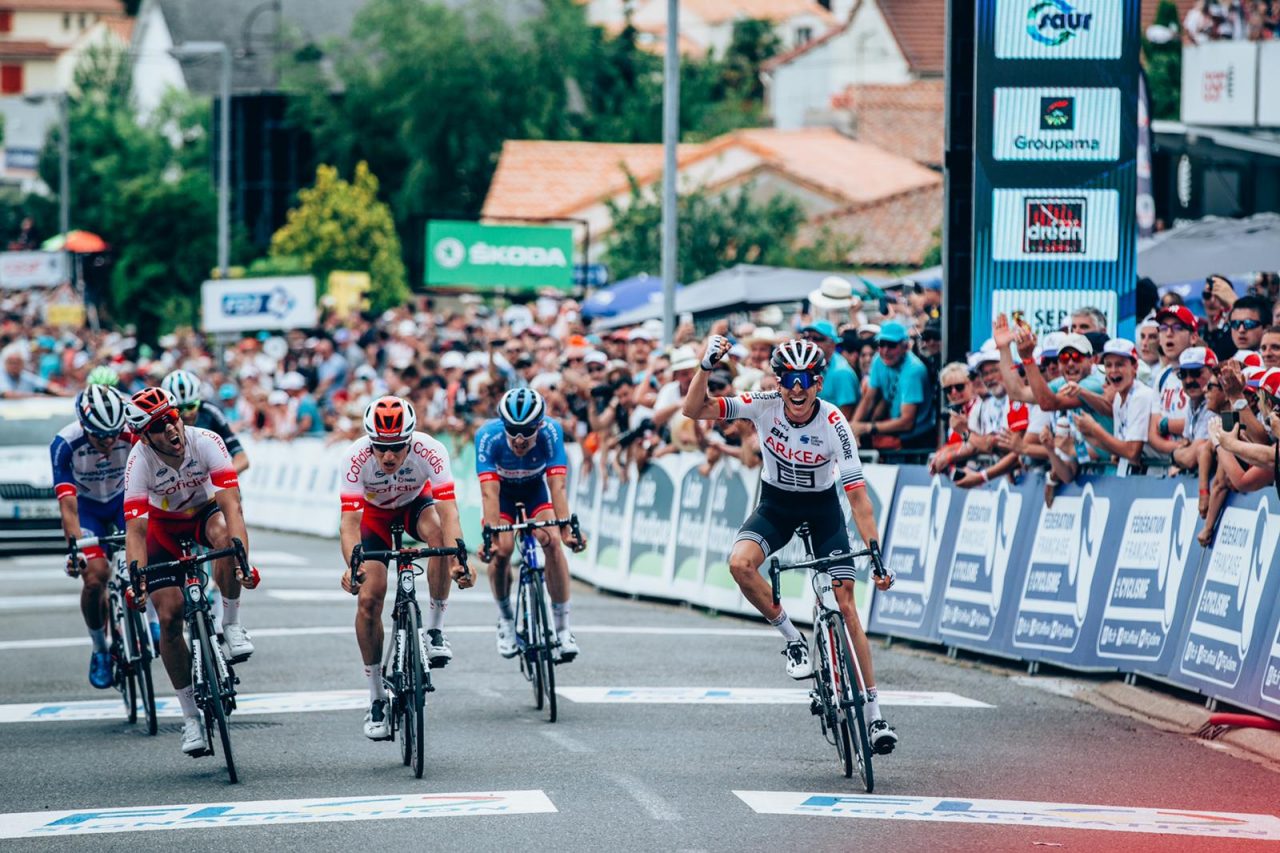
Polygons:
<instances>
[{"instance_id":1,"label":"white ARKEA jersey of the cyclist raising his fist","mask_svg":"<svg viewBox=\"0 0 1280 853\"><path fill-rule=\"evenodd\" d=\"M721 418L745 418L760 434L764 482L788 492L824 492L836 482L846 492L867 485L849 421L826 400L806 424L787 420L782 394L776 391L717 397Z\"/></svg>"}]
</instances>

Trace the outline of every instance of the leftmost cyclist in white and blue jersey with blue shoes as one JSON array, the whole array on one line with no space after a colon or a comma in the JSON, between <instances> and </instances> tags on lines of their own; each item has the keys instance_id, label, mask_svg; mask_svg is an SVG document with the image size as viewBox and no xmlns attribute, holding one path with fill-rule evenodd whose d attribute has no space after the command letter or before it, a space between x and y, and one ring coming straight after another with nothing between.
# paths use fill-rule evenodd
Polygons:
<instances>
[{"instance_id":1,"label":"leftmost cyclist in white and blue jersey with blue shoes","mask_svg":"<svg viewBox=\"0 0 1280 853\"><path fill-rule=\"evenodd\" d=\"M86 535L124 530L124 464L133 437L124 432L124 400L114 388L88 386L76 397L76 420L49 446L54 494L68 546ZM111 686L111 654L106 640L106 583L111 570L101 547L67 555L67 574L79 575L81 612L93 640L88 681Z\"/></svg>"}]
</instances>

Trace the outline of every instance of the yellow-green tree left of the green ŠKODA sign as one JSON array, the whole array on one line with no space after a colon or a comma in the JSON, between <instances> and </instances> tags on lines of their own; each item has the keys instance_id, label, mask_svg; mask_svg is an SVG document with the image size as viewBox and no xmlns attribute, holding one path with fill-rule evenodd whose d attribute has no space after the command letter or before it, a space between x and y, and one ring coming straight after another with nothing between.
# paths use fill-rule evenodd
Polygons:
<instances>
[{"instance_id":1,"label":"yellow-green tree left of the green \u0160KODA sign","mask_svg":"<svg viewBox=\"0 0 1280 853\"><path fill-rule=\"evenodd\" d=\"M333 167L316 169L315 184L298 192L298 206L271 237L271 257L301 260L321 288L335 270L369 273L374 310L408 297L392 211L378 200L378 178L365 161L349 182Z\"/></svg>"}]
</instances>

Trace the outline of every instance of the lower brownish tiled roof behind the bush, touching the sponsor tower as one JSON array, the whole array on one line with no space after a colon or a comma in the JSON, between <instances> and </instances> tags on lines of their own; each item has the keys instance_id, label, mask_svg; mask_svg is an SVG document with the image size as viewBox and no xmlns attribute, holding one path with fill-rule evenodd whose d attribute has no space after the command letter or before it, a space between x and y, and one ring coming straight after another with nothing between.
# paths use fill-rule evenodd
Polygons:
<instances>
[{"instance_id":1,"label":"lower brownish tiled roof behind the bush, touching the sponsor tower","mask_svg":"<svg viewBox=\"0 0 1280 853\"><path fill-rule=\"evenodd\" d=\"M855 242L854 266L919 266L942 224L942 183L909 190L822 216L801 227L797 240L823 231Z\"/></svg>"}]
</instances>

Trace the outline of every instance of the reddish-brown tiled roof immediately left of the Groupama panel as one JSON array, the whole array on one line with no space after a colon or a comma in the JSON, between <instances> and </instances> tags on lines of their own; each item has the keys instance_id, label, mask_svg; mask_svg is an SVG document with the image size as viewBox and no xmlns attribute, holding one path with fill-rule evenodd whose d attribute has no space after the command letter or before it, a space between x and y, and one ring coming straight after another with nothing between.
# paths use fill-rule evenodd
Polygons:
<instances>
[{"instance_id":1,"label":"reddish-brown tiled roof immediately left of the Groupama panel","mask_svg":"<svg viewBox=\"0 0 1280 853\"><path fill-rule=\"evenodd\" d=\"M854 85L831 106L852 115L852 134L916 163L942 167L946 86L941 78L902 85Z\"/></svg>"}]
</instances>

